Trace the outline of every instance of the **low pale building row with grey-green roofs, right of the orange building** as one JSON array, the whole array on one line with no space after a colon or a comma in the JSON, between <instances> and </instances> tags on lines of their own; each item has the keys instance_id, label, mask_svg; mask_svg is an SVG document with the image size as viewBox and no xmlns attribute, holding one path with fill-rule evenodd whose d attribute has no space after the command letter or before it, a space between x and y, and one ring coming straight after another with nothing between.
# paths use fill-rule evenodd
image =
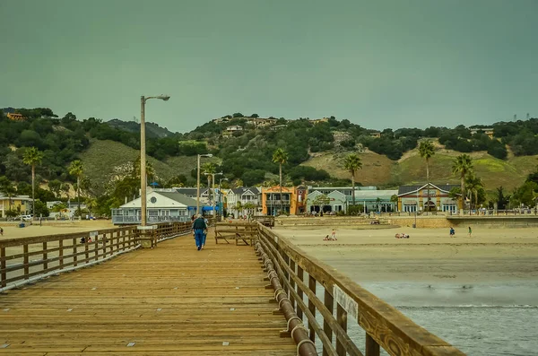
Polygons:
<instances>
[{"instance_id":1,"label":"low pale building row with grey-green roofs, right of the orange building","mask_svg":"<svg viewBox=\"0 0 538 356\"><path fill-rule=\"evenodd\" d=\"M325 204L325 207L313 204L318 196L314 194L315 192L330 196L331 203ZM352 187L308 187L307 212L319 213L323 210L324 213L341 211L347 213L348 206L353 204L351 193ZM381 190L372 186L355 187L355 204L362 205L363 213L391 213L396 211L396 203L392 196L397 194L398 191L395 189ZM320 199L317 198L317 203L319 202Z\"/></svg>"}]
</instances>

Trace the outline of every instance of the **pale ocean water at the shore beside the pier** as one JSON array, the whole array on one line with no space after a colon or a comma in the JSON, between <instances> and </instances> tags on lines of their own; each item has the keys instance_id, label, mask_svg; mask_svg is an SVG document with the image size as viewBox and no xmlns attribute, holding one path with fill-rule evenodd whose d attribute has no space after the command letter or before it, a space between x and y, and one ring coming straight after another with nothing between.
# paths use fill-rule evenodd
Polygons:
<instances>
[{"instance_id":1,"label":"pale ocean water at the shore beside the pier","mask_svg":"<svg viewBox=\"0 0 538 356\"><path fill-rule=\"evenodd\" d=\"M538 355L538 281L361 285L469 355Z\"/></svg>"}]
</instances>

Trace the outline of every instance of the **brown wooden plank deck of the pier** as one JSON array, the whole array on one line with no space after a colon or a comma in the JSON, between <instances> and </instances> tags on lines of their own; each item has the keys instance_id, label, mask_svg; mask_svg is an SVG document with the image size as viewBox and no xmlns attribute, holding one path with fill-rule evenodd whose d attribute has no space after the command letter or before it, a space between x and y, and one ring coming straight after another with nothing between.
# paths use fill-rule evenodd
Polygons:
<instances>
[{"instance_id":1,"label":"brown wooden plank deck of the pier","mask_svg":"<svg viewBox=\"0 0 538 356\"><path fill-rule=\"evenodd\" d=\"M295 355L252 247L212 236L200 252L178 237L5 292L0 354Z\"/></svg>"}]
</instances>

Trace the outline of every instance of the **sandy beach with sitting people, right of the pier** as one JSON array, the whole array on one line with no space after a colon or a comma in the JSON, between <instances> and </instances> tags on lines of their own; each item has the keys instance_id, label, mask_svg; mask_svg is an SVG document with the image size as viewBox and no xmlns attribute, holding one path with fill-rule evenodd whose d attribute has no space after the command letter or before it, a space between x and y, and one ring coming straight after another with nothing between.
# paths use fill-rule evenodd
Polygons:
<instances>
[{"instance_id":1,"label":"sandy beach with sitting people, right of the pier","mask_svg":"<svg viewBox=\"0 0 538 356\"><path fill-rule=\"evenodd\" d=\"M355 282L498 282L538 280L538 229L332 229L276 232ZM395 239L405 232L410 239Z\"/></svg>"}]
</instances>

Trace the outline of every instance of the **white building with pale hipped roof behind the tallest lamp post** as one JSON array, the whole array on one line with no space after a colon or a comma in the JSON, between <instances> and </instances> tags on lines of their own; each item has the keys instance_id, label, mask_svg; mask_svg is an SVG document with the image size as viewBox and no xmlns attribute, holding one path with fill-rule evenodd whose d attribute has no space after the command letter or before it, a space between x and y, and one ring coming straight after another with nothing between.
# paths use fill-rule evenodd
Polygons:
<instances>
[{"instance_id":1,"label":"white building with pale hipped roof behind the tallest lamp post","mask_svg":"<svg viewBox=\"0 0 538 356\"><path fill-rule=\"evenodd\" d=\"M196 213L196 200L174 191L162 189L161 191L148 189L147 193L147 221L190 221ZM142 221L142 200L140 197L121 205L118 209L112 209L112 223L134 224ZM204 204L200 204L204 210Z\"/></svg>"}]
</instances>

